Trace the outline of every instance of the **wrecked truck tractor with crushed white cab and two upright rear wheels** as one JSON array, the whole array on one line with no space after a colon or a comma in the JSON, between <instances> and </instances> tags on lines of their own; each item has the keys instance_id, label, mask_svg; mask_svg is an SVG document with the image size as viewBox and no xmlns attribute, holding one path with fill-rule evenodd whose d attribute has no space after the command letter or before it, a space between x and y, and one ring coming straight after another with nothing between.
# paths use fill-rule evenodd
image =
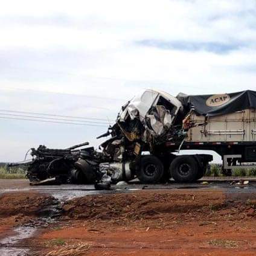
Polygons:
<instances>
[{"instance_id":1,"label":"wrecked truck tractor with crushed white cab and two upright rear wheels","mask_svg":"<svg viewBox=\"0 0 256 256\"><path fill-rule=\"evenodd\" d=\"M99 165L100 171L112 182L135 177L144 184L167 182L171 177L178 182L202 178L213 156L177 156L173 152L178 149L171 152L165 146L170 141L182 145L187 137L182 120L190 111L166 92L142 91L121 107L116 124L98 137L111 135L100 146L109 160Z\"/></svg>"}]
</instances>

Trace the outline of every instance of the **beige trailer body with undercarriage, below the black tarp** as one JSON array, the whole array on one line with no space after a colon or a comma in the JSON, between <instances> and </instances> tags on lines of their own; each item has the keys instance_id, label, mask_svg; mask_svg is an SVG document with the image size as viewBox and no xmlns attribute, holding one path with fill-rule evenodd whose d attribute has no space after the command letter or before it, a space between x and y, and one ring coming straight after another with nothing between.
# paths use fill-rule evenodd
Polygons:
<instances>
[{"instance_id":1,"label":"beige trailer body with undercarriage, below the black tarp","mask_svg":"<svg viewBox=\"0 0 256 256\"><path fill-rule=\"evenodd\" d=\"M223 174L230 176L235 168L255 168L256 109L205 117L194 113L182 149L213 150L222 157ZM173 152L179 142L166 142Z\"/></svg>"}]
</instances>

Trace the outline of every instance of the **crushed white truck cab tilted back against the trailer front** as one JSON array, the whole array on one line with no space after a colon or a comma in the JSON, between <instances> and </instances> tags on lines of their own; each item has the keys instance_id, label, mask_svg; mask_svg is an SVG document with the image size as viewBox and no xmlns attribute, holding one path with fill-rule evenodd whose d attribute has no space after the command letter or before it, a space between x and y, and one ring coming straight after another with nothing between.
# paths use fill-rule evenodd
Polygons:
<instances>
[{"instance_id":1,"label":"crushed white truck cab tilted back against the trailer front","mask_svg":"<svg viewBox=\"0 0 256 256\"><path fill-rule=\"evenodd\" d=\"M150 139L165 135L182 110L181 102L170 94L146 90L122 107L117 123L130 141L141 139L149 143Z\"/></svg>"}]
</instances>

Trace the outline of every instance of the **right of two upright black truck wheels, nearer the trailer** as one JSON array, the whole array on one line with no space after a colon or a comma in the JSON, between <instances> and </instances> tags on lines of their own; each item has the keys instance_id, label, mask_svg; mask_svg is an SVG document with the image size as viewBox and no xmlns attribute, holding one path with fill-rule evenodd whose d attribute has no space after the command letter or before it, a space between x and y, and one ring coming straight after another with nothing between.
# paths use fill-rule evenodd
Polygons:
<instances>
[{"instance_id":1,"label":"right of two upright black truck wheels, nearer the trailer","mask_svg":"<svg viewBox=\"0 0 256 256\"><path fill-rule=\"evenodd\" d=\"M177 156L170 165L170 173L174 181L192 182L197 177L198 165L189 155Z\"/></svg>"}]
</instances>

